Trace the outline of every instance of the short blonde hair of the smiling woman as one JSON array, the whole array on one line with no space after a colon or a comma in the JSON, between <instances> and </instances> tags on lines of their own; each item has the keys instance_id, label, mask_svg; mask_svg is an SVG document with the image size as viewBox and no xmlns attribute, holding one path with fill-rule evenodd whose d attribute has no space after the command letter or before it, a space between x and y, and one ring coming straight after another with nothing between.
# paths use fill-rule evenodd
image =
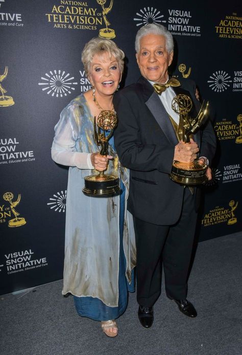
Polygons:
<instances>
[{"instance_id":1,"label":"short blonde hair of the smiling woman","mask_svg":"<svg viewBox=\"0 0 242 355\"><path fill-rule=\"evenodd\" d=\"M118 68L121 73L124 70L124 52L117 47L117 45L110 39L94 37L86 43L82 51L82 62L86 76L89 76L90 64L95 54L102 55L108 53L110 58L113 56L118 63Z\"/></svg>"}]
</instances>

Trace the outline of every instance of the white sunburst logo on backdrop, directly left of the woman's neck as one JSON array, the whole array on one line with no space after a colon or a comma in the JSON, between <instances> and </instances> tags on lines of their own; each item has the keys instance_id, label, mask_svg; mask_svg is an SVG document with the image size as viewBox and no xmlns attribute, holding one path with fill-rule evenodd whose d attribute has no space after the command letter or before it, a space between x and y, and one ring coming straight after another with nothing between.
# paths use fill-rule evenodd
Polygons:
<instances>
[{"instance_id":1,"label":"white sunburst logo on backdrop, directly left of the woman's neck","mask_svg":"<svg viewBox=\"0 0 242 355\"><path fill-rule=\"evenodd\" d=\"M60 70L49 73L45 73L45 76L41 77L43 82L39 82L39 85L43 86L42 91L46 91L48 95L63 97L70 94L71 90L75 90L73 85L77 85L77 82L72 82L74 76L70 77L69 73Z\"/></svg>"}]
</instances>

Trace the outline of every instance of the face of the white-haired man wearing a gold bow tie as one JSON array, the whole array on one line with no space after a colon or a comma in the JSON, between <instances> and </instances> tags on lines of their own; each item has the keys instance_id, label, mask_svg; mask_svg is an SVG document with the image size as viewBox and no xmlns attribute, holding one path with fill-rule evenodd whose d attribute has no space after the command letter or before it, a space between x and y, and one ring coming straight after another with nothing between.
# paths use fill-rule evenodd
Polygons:
<instances>
[{"instance_id":1,"label":"face of the white-haired man wearing a gold bow tie","mask_svg":"<svg viewBox=\"0 0 242 355\"><path fill-rule=\"evenodd\" d=\"M166 51L164 36L151 33L141 37L136 59L140 73L144 78L161 84L166 82L173 52Z\"/></svg>"}]
</instances>

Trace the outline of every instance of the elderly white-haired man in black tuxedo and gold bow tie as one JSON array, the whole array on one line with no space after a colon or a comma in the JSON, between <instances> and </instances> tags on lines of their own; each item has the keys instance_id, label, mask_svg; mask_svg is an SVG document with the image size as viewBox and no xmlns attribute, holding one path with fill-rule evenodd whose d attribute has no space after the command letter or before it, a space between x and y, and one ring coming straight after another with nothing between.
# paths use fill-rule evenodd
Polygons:
<instances>
[{"instance_id":1,"label":"elderly white-haired man in black tuxedo and gold bow tie","mask_svg":"<svg viewBox=\"0 0 242 355\"><path fill-rule=\"evenodd\" d=\"M142 77L114 96L119 120L115 146L120 162L130 169L128 209L133 214L136 233L138 317L146 328L154 319L162 263L167 297L178 304L184 315L197 316L186 297L199 189L184 188L169 175L174 160L189 163L199 154L200 163L211 162L215 151L210 122L194 140L190 139L190 144L177 138L179 115L171 103L177 94L191 95L176 79L168 78L173 48L172 34L165 27L149 24L140 28L135 49ZM166 84L162 93L154 91L154 83ZM198 105L198 101L193 103L195 116ZM207 176L211 179L210 169Z\"/></svg>"}]
</instances>

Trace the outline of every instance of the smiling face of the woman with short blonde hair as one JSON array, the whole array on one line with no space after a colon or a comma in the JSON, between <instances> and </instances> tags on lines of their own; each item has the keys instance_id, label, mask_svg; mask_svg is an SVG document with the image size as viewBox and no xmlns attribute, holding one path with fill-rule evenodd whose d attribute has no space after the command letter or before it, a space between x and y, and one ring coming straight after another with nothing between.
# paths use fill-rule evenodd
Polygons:
<instances>
[{"instance_id":1,"label":"smiling face of the woman with short blonde hair","mask_svg":"<svg viewBox=\"0 0 242 355\"><path fill-rule=\"evenodd\" d=\"M89 80L99 95L113 95L122 73L117 60L109 53L95 54L90 64Z\"/></svg>"}]
</instances>

